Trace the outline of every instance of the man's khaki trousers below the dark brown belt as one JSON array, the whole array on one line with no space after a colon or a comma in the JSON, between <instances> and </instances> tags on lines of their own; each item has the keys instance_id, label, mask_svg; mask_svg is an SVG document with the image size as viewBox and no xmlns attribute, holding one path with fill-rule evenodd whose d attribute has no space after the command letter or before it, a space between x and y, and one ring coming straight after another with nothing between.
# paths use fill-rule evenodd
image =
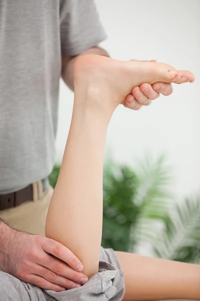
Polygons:
<instances>
[{"instance_id":1,"label":"man's khaki trousers below the dark brown belt","mask_svg":"<svg viewBox=\"0 0 200 301\"><path fill-rule=\"evenodd\" d=\"M33 201L0 210L2 218L8 226L19 231L45 236L45 222L53 189L49 187L42 192L41 182L33 183Z\"/></svg>"}]
</instances>

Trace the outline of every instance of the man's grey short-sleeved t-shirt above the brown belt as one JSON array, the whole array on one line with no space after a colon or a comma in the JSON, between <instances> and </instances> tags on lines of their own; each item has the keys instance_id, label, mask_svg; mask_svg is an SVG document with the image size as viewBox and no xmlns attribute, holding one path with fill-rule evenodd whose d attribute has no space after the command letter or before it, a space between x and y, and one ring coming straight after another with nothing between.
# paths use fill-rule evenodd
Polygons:
<instances>
[{"instance_id":1,"label":"man's grey short-sleeved t-shirt above the brown belt","mask_svg":"<svg viewBox=\"0 0 200 301\"><path fill-rule=\"evenodd\" d=\"M94 0L0 0L0 194L49 175L61 54L105 37Z\"/></svg>"}]
</instances>

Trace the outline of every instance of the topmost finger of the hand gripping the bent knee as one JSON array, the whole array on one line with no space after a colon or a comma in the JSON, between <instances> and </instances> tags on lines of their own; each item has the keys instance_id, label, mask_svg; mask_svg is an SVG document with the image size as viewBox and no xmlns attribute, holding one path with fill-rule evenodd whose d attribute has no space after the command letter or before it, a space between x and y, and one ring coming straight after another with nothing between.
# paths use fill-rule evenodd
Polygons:
<instances>
[{"instance_id":1,"label":"topmost finger of the hand gripping the bent knee","mask_svg":"<svg viewBox=\"0 0 200 301\"><path fill-rule=\"evenodd\" d=\"M74 270L81 272L83 270L83 265L80 260L65 246L61 243L44 237L41 241L41 247L44 252L49 253L56 258L66 262Z\"/></svg>"}]
</instances>

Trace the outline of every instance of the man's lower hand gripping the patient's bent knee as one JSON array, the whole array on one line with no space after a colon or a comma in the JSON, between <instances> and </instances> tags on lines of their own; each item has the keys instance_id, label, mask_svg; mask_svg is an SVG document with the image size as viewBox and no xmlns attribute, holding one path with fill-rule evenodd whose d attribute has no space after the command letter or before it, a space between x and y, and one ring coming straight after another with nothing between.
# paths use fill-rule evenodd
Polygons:
<instances>
[{"instance_id":1,"label":"man's lower hand gripping the patient's bent knee","mask_svg":"<svg viewBox=\"0 0 200 301\"><path fill-rule=\"evenodd\" d=\"M75 288L88 281L80 272L81 262L62 244L8 227L6 233L7 240L4 235L0 242L0 266L4 272L55 291Z\"/></svg>"}]
</instances>

